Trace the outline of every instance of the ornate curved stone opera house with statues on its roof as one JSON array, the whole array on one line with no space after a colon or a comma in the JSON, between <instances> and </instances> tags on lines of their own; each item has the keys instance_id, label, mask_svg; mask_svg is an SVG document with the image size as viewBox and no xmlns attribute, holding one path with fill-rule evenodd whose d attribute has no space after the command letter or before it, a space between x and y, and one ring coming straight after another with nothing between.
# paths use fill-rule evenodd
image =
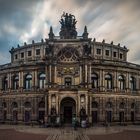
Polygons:
<instances>
[{"instance_id":1,"label":"ornate curved stone opera house with statues on its roof","mask_svg":"<svg viewBox=\"0 0 140 140\"><path fill-rule=\"evenodd\" d=\"M63 14L59 36L12 48L11 63L0 66L0 121L90 124L139 123L140 66L127 61L128 49L97 42L85 26Z\"/></svg>"}]
</instances>

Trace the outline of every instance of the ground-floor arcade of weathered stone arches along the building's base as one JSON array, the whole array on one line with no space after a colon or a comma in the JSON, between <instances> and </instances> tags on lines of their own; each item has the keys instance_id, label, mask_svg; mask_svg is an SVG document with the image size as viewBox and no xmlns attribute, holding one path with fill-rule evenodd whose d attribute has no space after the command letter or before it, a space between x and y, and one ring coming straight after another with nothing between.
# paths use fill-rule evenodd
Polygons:
<instances>
[{"instance_id":1,"label":"ground-floor arcade of weathered stone arches along the building's base","mask_svg":"<svg viewBox=\"0 0 140 140\"><path fill-rule=\"evenodd\" d=\"M11 109L8 110L7 103L2 103L3 110L1 111L1 120L6 121L10 111L10 119L13 123L23 121L25 123L37 122L42 120L51 123L55 123L57 117L60 118L62 123L72 123L72 118L77 117L78 121L87 119L92 125L98 123L126 123L126 122L135 122L137 107L134 102L126 104L124 100L115 103L111 100L106 101L104 106L100 104L101 101L105 100L95 100L92 99L90 104L86 102L86 96L84 94L80 95L79 101L75 96L69 97L57 97L55 94L49 96L51 99L42 98L41 101L35 105L33 100L28 100L22 105L20 102L13 101L11 103ZM60 98L60 101L58 101ZM51 106L48 106L50 102ZM33 105L35 107L33 107ZM129 105L130 109L127 110ZM91 110L88 109L88 106L91 106ZM49 108L50 109L49 109ZM115 113L116 112L116 113ZM128 116L128 113L130 116Z\"/></svg>"}]
</instances>

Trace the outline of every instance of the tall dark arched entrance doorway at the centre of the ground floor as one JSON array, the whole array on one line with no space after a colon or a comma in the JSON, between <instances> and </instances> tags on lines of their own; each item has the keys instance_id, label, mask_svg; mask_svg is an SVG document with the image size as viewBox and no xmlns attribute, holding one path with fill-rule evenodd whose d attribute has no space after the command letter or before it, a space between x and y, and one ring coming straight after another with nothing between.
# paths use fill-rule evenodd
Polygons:
<instances>
[{"instance_id":1,"label":"tall dark arched entrance doorway at the centre of the ground floor","mask_svg":"<svg viewBox=\"0 0 140 140\"><path fill-rule=\"evenodd\" d=\"M64 123L72 123L72 117L76 115L76 102L71 97L65 97L60 104L61 120Z\"/></svg>"}]
</instances>

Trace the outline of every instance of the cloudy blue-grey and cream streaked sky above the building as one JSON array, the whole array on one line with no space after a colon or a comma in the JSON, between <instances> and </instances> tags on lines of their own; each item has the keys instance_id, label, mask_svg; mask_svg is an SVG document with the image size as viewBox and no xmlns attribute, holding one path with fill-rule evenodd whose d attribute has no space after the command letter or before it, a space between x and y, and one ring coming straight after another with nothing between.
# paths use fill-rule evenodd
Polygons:
<instances>
[{"instance_id":1,"label":"cloudy blue-grey and cream streaked sky above the building","mask_svg":"<svg viewBox=\"0 0 140 140\"><path fill-rule=\"evenodd\" d=\"M12 46L47 38L50 25L58 35L63 11L76 16L79 35L87 25L90 37L125 45L140 64L140 0L0 0L0 64Z\"/></svg>"}]
</instances>

